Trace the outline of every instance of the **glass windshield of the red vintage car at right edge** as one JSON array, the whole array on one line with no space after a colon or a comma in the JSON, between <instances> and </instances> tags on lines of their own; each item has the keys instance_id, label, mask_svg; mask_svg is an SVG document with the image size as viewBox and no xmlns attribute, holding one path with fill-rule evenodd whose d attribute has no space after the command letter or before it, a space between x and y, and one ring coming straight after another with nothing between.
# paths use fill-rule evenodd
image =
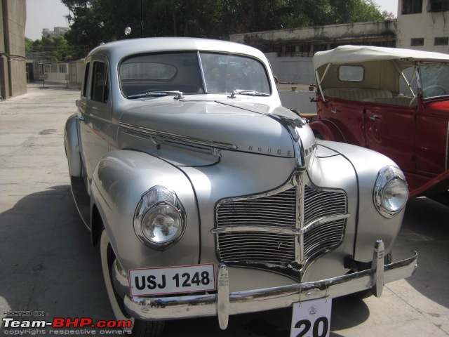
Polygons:
<instances>
[{"instance_id":1,"label":"glass windshield of the red vintage car at right edge","mask_svg":"<svg viewBox=\"0 0 449 337\"><path fill-rule=\"evenodd\" d=\"M420 64L422 98L433 98L449 93L449 64Z\"/></svg>"}]
</instances>

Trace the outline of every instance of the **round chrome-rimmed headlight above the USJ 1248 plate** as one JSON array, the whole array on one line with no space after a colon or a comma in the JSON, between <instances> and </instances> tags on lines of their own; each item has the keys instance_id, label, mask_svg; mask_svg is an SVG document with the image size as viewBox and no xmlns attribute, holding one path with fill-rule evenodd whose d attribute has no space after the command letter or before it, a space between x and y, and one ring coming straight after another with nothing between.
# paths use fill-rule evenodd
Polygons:
<instances>
[{"instance_id":1,"label":"round chrome-rimmed headlight above the USJ 1248 plate","mask_svg":"<svg viewBox=\"0 0 449 337\"><path fill-rule=\"evenodd\" d=\"M176 193L161 185L145 192L135 210L135 234L142 243L158 251L182 237L185 223L185 209Z\"/></svg>"}]
</instances>

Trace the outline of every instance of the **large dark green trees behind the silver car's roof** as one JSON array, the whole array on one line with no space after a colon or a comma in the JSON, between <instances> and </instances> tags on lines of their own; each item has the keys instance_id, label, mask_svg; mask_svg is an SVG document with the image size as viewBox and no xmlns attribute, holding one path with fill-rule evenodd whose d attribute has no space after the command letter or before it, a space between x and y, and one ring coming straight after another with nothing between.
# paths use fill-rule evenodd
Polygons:
<instances>
[{"instance_id":1,"label":"large dark green trees behind the silver car's roof","mask_svg":"<svg viewBox=\"0 0 449 337\"><path fill-rule=\"evenodd\" d=\"M73 22L66 39L88 45L137 37L207 37L315 25L378 21L372 0L61 0ZM141 10L143 8L143 11ZM143 20L142 20L143 19ZM143 23L143 32L141 29ZM131 27L129 37L125 27Z\"/></svg>"}]
</instances>

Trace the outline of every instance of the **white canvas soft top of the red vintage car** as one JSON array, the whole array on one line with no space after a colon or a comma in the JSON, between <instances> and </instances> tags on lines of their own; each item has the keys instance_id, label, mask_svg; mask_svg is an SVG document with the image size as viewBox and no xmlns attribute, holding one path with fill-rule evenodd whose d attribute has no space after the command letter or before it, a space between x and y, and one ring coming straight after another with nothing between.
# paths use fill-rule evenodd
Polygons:
<instances>
[{"instance_id":1,"label":"white canvas soft top of the red vintage car","mask_svg":"<svg viewBox=\"0 0 449 337\"><path fill-rule=\"evenodd\" d=\"M430 62L449 62L449 55L413 49L387 48L374 46L340 46L330 51L319 51L314 55L314 69L322 65L366 62L369 60L420 60Z\"/></svg>"}]
</instances>

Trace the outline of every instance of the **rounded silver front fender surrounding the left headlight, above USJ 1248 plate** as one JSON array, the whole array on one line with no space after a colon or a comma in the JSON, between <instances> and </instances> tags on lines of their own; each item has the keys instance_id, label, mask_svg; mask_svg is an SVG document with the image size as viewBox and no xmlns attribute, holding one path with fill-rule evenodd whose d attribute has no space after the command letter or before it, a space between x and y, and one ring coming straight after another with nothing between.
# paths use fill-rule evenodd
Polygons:
<instances>
[{"instance_id":1,"label":"rounded silver front fender surrounding the left headlight, above USJ 1248 plate","mask_svg":"<svg viewBox=\"0 0 449 337\"><path fill-rule=\"evenodd\" d=\"M163 252L142 244L133 225L142 194L155 185L175 191L187 213L184 234ZM91 200L91 209L98 209L124 270L198 263L200 232L196 197L185 173L175 166L144 152L109 152L95 168Z\"/></svg>"}]
</instances>

